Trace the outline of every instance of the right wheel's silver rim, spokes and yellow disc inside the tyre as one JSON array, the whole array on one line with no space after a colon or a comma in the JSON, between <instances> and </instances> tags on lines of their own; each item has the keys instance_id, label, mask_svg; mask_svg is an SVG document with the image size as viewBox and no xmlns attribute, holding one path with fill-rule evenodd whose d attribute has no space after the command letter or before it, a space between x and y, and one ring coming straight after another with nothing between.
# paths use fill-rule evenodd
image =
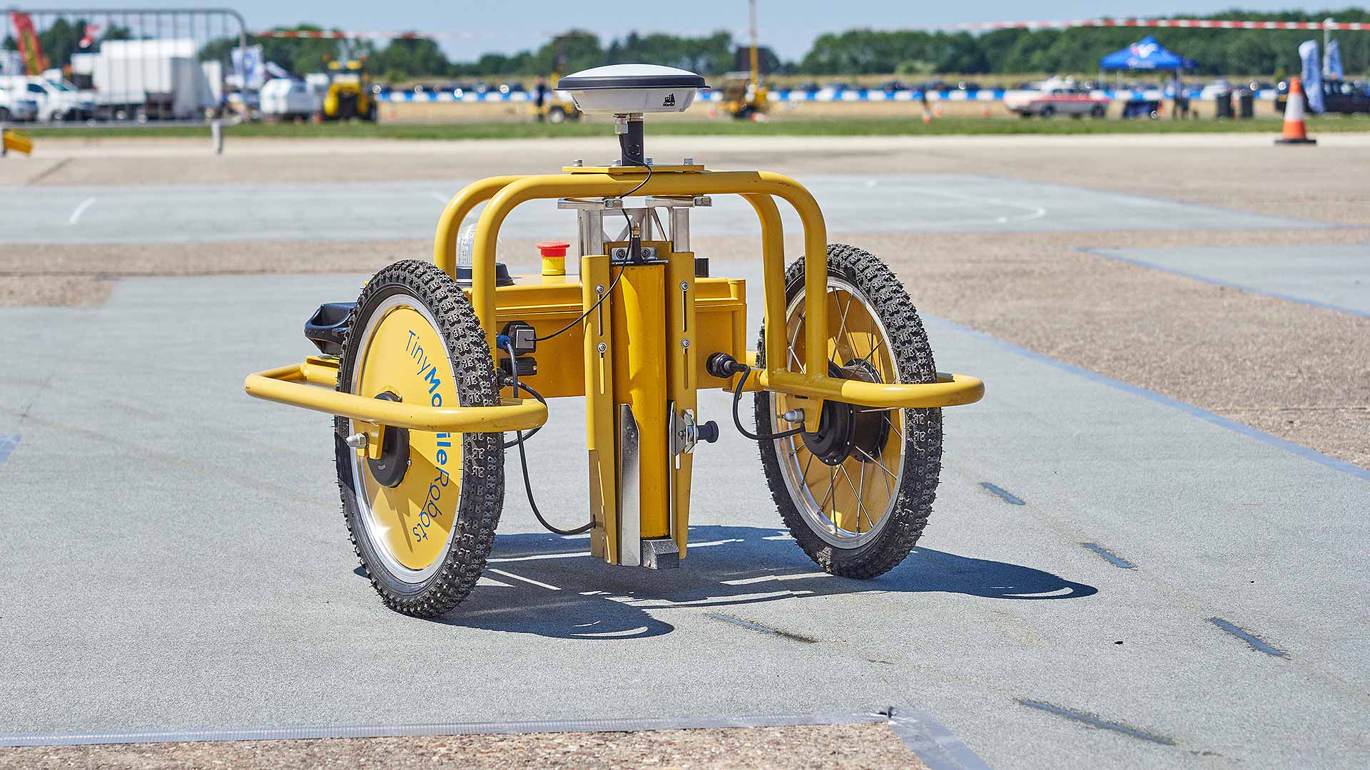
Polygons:
<instances>
[{"instance_id":1,"label":"right wheel's silver rim, spokes and yellow disc inside the tyre","mask_svg":"<svg viewBox=\"0 0 1370 770\"><path fill-rule=\"evenodd\" d=\"M856 286L827 277L830 377L903 382L889 332ZM786 369L804 371L804 292L785 308ZM773 433L795 427L781 415L799 400L770 399ZM823 427L775 440L781 475L808 527L836 548L860 548L880 536L899 501L904 466L904 410L825 404Z\"/></svg>"}]
</instances>

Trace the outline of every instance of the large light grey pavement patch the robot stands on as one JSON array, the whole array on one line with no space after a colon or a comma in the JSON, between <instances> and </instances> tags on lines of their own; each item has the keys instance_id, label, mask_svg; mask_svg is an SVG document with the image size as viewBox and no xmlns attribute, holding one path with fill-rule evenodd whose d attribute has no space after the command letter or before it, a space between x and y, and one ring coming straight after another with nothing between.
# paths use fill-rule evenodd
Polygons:
<instances>
[{"instance_id":1,"label":"large light grey pavement patch the robot stands on","mask_svg":"<svg viewBox=\"0 0 1370 770\"><path fill-rule=\"evenodd\" d=\"M327 418L241 392L363 278L133 280L97 310L0 308L22 332L0 341L18 436L0 732L910 703L995 767L1370 759L1367 474L938 322L940 367L989 395L947 412L933 519L895 571L818 573L726 429L730 397L706 393L725 436L697 455L680 571L540 533L507 463L488 580L440 622L389 612L353 573ZM529 445L563 525L585 517L582 426L553 401Z\"/></svg>"}]
</instances>

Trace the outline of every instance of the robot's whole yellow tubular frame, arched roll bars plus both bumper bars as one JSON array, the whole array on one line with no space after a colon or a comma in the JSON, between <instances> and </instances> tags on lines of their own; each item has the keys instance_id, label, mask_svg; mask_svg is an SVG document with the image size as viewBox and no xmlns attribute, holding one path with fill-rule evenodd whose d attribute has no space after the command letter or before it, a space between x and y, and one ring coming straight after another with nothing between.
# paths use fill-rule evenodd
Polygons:
<instances>
[{"instance_id":1,"label":"robot's whole yellow tubular frame, arched roll bars plus both bumper bars","mask_svg":"<svg viewBox=\"0 0 1370 770\"><path fill-rule=\"evenodd\" d=\"M767 171L659 170L644 182L645 170L614 169L529 177L489 177L467 185L443 210L433 240L433 263L456 277L458 229L471 211L489 201L475 229L471 264L471 306L495 351L495 244L500 226L515 207L530 200L559 197L738 195L756 211L762 230L762 267L766 296L766 370L756 389L836 400L864 407L933 408L978 401L985 385L960 374L937 375L937 382L882 384L827 377L827 227L814 196L799 182ZM641 185L641 186L638 186ZM785 327L785 248L780 197L795 207L804 225L804 373L789 371ZM701 355L707 355L704 351ZM338 393L337 362L318 358L252 374L245 390L259 399L341 415L375 425L449 433L530 430L547 422L547 407L532 400L506 399L493 407L427 407ZM812 410L815 426L818 410Z\"/></svg>"}]
</instances>

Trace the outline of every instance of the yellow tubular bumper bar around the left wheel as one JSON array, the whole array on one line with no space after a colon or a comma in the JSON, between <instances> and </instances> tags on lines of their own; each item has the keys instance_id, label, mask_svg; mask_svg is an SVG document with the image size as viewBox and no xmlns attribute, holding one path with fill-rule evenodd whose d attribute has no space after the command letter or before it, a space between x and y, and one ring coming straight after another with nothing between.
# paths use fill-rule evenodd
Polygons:
<instances>
[{"instance_id":1,"label":"yellow tubular bumper bar around the left wheel","mask_svg":"<svg viewBox=\"0 0 1370 770\"><path fill-rule=\"evenodd\" d=\"M242 386L258 399L429 433L503 433L547 422L547 407L533 400L504 399L497 407L429 407L338 393L333 389L337 366L312 356L249 374Z\"/></svg>"}]
</instances>

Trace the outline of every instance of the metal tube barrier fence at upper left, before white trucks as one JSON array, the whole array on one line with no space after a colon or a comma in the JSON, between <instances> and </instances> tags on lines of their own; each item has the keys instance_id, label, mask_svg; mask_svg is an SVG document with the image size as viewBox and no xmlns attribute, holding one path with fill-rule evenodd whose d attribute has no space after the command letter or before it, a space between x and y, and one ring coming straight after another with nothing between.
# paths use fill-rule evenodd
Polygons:
<instances>
[{"instance_id":1,"label":"metal tube barrier fence at upper left, before white trucks","mask_svg":"<svg viewBox=\"0 0 1370 770\"><path fill-rule=\"evenodd\" d=\"M263 67L229 8L0 11L0 123L206 126L256 108Z\"/></svg>"}]
</instances>

